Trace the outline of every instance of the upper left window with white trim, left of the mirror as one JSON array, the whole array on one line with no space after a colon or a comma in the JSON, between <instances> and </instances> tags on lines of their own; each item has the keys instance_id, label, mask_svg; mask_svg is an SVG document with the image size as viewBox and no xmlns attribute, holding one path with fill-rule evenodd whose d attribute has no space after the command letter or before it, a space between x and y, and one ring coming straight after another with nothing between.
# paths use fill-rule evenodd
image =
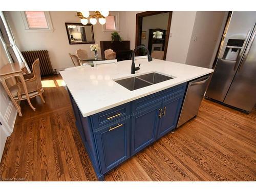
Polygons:
<instances>
[{"instance_id":1,"label":"upper left window with white trim, left of the mirror","mask_svg":"<svg viewBox=\"0 0 256 192\"><path fill-rule=\"evenodd\" d=\"M22 11L25 29L29 31L53 31L49 11Z\"/></svg>"}]
</instances>

